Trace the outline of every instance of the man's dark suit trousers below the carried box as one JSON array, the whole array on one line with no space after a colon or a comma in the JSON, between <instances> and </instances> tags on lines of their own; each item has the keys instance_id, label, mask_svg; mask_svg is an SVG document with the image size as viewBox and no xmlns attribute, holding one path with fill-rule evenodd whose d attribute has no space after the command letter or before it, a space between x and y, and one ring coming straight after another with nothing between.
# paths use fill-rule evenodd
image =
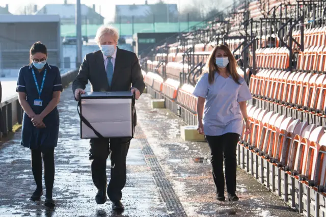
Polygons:
<instances>
[{"instance_id":1,"label":"man's dark suit trousers below the carried box","mask_svg":"<svg viewBox=\"0 0 326 217\"><path fill-rule=\"evenodd\" d=\"M92 179L97 189L105 191L106 159L110 154L111 179L107 186L107 196L111 201L122 198L122 188L126 184L126 157L130 141L128 139L92 139L90 159Z\"/></svg>"}]
</instances>

